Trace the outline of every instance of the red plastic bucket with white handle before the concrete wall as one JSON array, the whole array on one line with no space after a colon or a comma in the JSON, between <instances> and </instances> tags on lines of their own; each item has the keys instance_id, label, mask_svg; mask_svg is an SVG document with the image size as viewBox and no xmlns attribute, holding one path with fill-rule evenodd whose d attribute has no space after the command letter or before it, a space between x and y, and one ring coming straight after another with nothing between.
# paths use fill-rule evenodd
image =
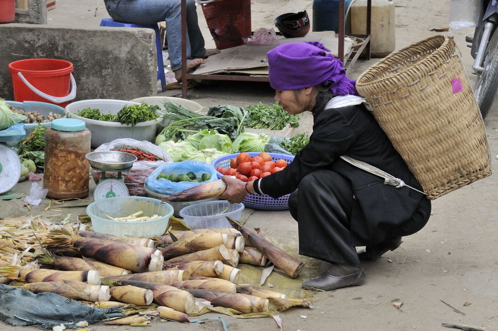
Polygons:
<instances>
[{"instance_id":1,"label":"red plastic bucket with white handle before the concrete wall","mask_svg":"<svg viewBox=\"0 0 498 331\"><path fill-rule=\"evenodd\" d=\"M57 59L26 59L11 62L14 101L42 101L67 106L76 97L73 64Z\"/></svg>"}]
</instances>

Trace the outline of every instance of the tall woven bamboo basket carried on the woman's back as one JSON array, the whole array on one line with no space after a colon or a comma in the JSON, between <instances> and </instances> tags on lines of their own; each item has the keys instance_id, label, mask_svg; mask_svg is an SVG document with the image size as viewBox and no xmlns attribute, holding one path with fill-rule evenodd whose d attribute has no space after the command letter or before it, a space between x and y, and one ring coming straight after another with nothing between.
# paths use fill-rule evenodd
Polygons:
<instances>
[{"instance_id":1,"label":"tall woven bamboo basket carried on the woman's back","mask_svg":"<svg viewBox=\"0 0 498 331\"><path fill-rule=\"evenodd\" d=\"M356 88L429 199L491 175L483 118L453 37L391 53Z\"/></svg>"}]
</instances>

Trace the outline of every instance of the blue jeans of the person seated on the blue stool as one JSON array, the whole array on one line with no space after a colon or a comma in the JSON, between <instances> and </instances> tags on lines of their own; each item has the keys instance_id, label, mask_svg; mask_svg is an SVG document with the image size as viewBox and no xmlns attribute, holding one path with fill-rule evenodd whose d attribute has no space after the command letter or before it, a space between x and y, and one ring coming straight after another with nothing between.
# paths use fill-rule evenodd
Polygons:
<instances>
[{"instance_id":1,"label":"blue jeans of the person seated on the blue stool","mask_svg":"<svg viewBox=\"0 0 498 331\"><path fill-rule=\"evenodd\" d=\"M166 22L171 70L182 67L182 31L180 0L104 0L109 15L115 20L134 24ZM187 0L187 60L199 59L206 53L199 28L195 0Z\"/></svg>"}]
</instances>

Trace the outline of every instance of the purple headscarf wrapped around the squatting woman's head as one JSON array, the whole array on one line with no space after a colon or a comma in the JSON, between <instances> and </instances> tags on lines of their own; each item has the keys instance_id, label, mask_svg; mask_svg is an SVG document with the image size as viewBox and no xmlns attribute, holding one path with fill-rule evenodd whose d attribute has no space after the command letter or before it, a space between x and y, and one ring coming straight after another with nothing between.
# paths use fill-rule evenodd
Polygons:
<instances>
[{"instance_id":1,"label":"purple headscarf wrapped around the squatting woman's head","mask_svg":"<svg viewBox=\"0 0 498 331\"><path fill-rule=\"evenodd\" d=\"M268 77L273 89L288 90L324 83L336 95L358 95L346 77L343 63L318 41L281 44L268 55Z\"/></svg>"}]
</instances>

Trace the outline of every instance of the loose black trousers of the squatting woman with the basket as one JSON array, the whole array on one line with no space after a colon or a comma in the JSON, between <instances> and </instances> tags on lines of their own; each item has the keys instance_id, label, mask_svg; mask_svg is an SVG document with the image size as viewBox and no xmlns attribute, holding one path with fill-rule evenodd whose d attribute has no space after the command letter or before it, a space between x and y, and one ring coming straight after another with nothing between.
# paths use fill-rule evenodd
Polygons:
<instances>
[{"instance_id":1,"label":"loose black trousers of the squatting woman with the basket","mask_svg":"<svg viewBox=\"0 0 498 331\"><path fill-rule=\"evenodd\" d=\"M388 229L385 237L411 235L420 230L429 215L430 205L422 199L412 218ZM331 170L317 170L306 175L289 197L289 211L298 222L299 253L328 262L360 267L350 233L354 193L349 180ZM375 212L375 211L367 211ZM430 212L430 207L429 207Z\"/></svg>"}]
</instances>

